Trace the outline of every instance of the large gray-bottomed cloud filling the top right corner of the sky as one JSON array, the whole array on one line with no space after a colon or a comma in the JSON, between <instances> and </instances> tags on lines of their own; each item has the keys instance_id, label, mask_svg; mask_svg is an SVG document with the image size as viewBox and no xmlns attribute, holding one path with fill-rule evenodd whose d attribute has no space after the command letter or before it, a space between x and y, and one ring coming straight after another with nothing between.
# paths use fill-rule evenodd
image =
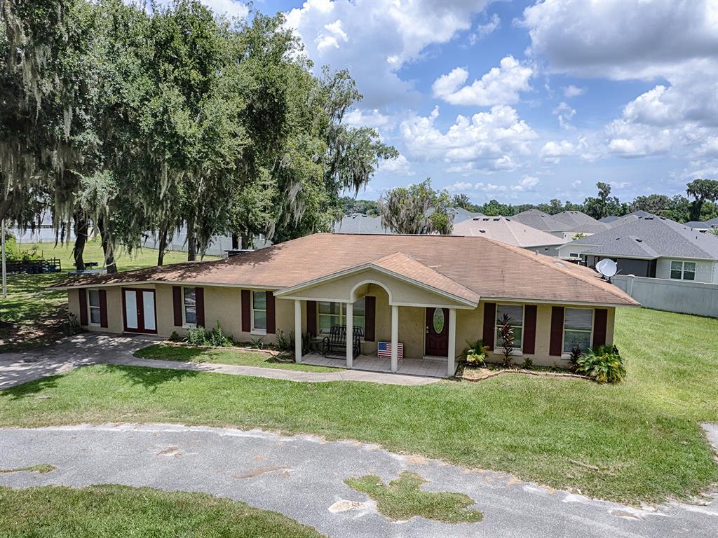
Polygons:
<instances>
[{"instance_id":1,"label":"large gray-bottomed cloud filling the top right corner of the sky","mask_svg":"<svg viewBox=\"0 0 718 538\"><path fill-rule=\"evenodd\" d=\"M527 7L521 24L549 71L630 80L715 57L717 19L714 0L546 0Z\"/></svg>"}]
</instances>

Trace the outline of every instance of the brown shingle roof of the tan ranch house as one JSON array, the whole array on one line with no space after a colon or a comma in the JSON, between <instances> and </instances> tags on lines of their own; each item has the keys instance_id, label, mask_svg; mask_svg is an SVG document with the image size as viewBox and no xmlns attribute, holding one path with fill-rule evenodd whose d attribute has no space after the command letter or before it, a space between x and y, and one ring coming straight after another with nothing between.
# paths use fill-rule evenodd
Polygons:
<instances>
[{"instance_id":1,"label":"brown shingle roof of the tan ranch house","mask_svg":"<svg viewBox=\"0 0 718 538\"><path fill-rule=\"evenodd\" d=\"M397 253L434 273L429 275L418 265L391 256ZM638 304L591 269L485 237L452 235L314 234L225 260L88 275L58 287L162 281L279 289L376 263L381 258L382 263L414 271L417 278L433 279L434 283L443 276L452 283L442 280L439 285L457 284L484 299Z\"/></svg>"}]
</instances>

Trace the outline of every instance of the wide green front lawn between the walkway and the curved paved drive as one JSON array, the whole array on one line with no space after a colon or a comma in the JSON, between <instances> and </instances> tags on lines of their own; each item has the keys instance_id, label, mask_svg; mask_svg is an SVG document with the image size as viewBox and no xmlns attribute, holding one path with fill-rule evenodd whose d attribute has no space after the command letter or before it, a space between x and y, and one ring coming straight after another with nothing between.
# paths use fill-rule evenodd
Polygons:
<instances>
[{"instance_id":1,"label":"wide green front lawn between the walkway and the curved paved drive","mask_svg":"<svg viewBox=\"0 0 718 538\"><path fill-rule=\"evenodd\" d=\"M718 320L621 310L628 379L495 377L421 387L93 366L0 392L1 426L232 425L381 443L617 501L699 494L718 463Z\"/></svg>"}]
</instances>

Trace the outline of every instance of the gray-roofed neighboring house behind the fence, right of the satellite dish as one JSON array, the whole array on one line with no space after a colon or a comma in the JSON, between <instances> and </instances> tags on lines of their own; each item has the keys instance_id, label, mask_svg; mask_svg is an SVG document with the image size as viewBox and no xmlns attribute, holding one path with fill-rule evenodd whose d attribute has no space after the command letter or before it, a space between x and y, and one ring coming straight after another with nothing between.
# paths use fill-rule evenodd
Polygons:
<instances>
[{"instance_id":1,"label":"gray-roofed neighboring house behind the fence, right of the satellite dish","mask_svg":"<svg viewBox=\"0 0 718 538\"><path fill-rule=\"evenodd\" d=\"M590 268L611 258L622 275L718 283L718 237L664 217L638 217L567 243L559 256L580 257Z\"/></svg>"}]
</instances>

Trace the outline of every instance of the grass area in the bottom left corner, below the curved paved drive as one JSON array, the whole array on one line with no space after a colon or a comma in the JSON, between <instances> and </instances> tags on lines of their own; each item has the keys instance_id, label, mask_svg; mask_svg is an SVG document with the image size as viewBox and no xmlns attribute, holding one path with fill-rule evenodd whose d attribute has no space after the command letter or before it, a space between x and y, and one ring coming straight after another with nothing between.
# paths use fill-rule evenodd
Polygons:
<instances>
[{"instance_id":1,"label":"grass area in the bottom left corner, below the curved paved drive","mask_svg":"<svg viewBox=\"0 0 718 538\"><path fill-rule=\"evenodd\" d=\"M274 511L183 492L126 486L0 487L0 537L318 538Z\"/></svg>"}]
</instances>

